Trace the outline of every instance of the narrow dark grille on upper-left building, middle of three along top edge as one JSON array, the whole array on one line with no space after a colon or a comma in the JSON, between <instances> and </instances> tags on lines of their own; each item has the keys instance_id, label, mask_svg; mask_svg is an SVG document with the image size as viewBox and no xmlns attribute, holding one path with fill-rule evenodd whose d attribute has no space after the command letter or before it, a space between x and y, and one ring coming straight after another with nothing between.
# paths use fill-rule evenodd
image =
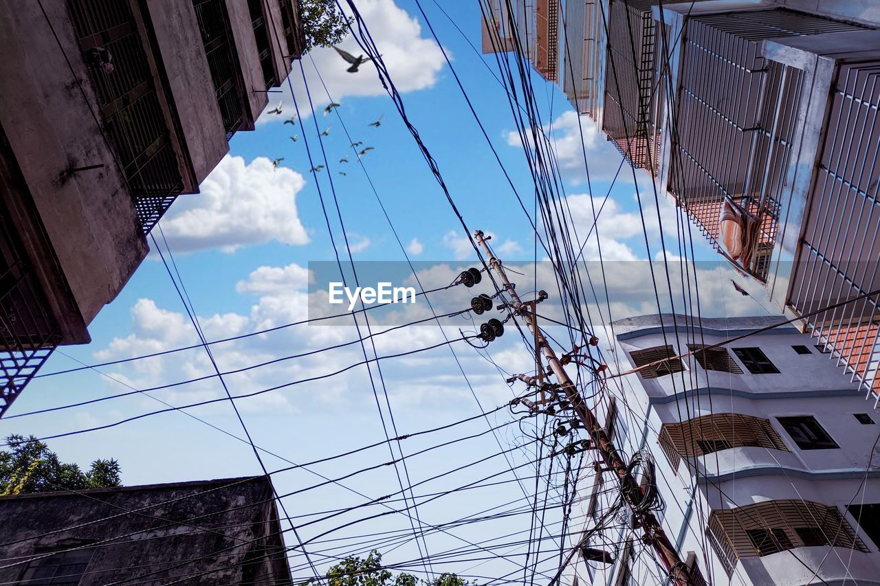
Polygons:
<instances>
[{"instance_id":1,"label":"narrow dark grille on upper-left building, middle of three along top edge","mask_svg":"<svg viewBox=\"0 0 880 586\"><path fill-rule=\"evenodd\" d=\"M238 54L233 48L229 14L223 0L193 0L193 6L208 57L217 106L220 107L220 116L229 139L241 126L245 116L244 83L240 79Z\"/></svg>"}]
</instances>

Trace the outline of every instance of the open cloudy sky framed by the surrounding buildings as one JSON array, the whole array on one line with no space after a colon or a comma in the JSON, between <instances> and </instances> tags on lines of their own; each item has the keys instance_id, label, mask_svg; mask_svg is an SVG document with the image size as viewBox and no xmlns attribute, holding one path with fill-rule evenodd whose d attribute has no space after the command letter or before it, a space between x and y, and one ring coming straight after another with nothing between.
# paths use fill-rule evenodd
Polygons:
<instances>
[{"instance_id":1,"label":"open cloudy sky framed by the surrounding buildings","mask_svg":"<svg viewBox=\"0 0 880 586\"><path fill-rule=\"evenodd\" d=\"M516 275L520 281L517 289L524 297L533 295L535 289L546 289L551 292L548 306L553 305L552 269L547 262L535 264L535 260L545 260L545 255L536 254L529 219L445 61L444 52L504 170L524 201L533 203L534 183L496 77L495 56L480 55L474 49L480 40L478 5L441 4L450 20L433 0L421 0L427 21L419 5L407 0L363 0L358 6L403 94L407 115L436 160L468 228L490 233L495 252L511 268L518 267L524 273ZM350 37L341 45L352 53L359 52ZM300 63L295 63L290 76L294 96L286 84L281 93L269 96L267 110L280 101L282 114L266 112L253 132L238 132L231 139L229 155L203 182L202 193L181 196L159 224L160 229L153 231L170 270L150 241L154 252L92 323L92 343L55 352L4 419L4 434L48 437L111 426L48 439L48 443L63 460L81 465L94 458L118 459L126 485L258 474L260 464L243 439L244 431L229 401L222 400L224 387L211 376L214 366L203 348L53 373L198 345L199 337L181 296L188 299L209 341L308 319L309 294L316 290L309 289L310 263L329 262L333 267L337 254L348 260L348 251L358 262L374 261L371 266L378 275L387 268L395 271L397 278L400 267L405 267L401 280L411 277L405 274L407 256L432 261L425 262L422 276L424 283L437 286L474 266L473 248L461 223L378 82L376 71L368 63L358 73L349 74L347 64L331 48L315 49L301 64L302 71ZM643 172L634 179L624 167L612 186L620 165L617 150L591 121L578 119L556 86L537 76L532 83L578 234L590 231L591 209L600 206L609 194L598 230L593 232L598 233L598 239L594 236L583 245L584 260L592 261L587 270L604 285L600 289L608 289L607 297L603 290L601 298L590 302L598 315L597 332L604 335L599 322L656 312L657 298L645 260L663 260L664 242L667 258L672 264L678 259L676 209L662 195L655 199ZM331 100L341 106L324 115ZM285 124L291 116L296 123ZM374 121L380 121L378 128L369 125ZM326 136L319 143L320 131ZM359 149L373 147L363 155L363 168L357 165L356 150L350 147L353 142L363 142ZM589 186L582 149L590 165ZM341 162L345 157L348 162ZM277 167L272 163L275 159ZM325 167L313 174L310 170L315 165ZM644 223L636 200L636 180ZM597 262L600 245L604 266ZM693 258L705 261L698 267L704 315L765 313L759 304L732 288L723 274L726 269L696 231L693 246ZM182 283L180 292L169 273L178 285ZM670 286L678 287L675 279L672 281ZM409 278L408 282L414 280ZM473 294L491 293L488 287L488 280L484 280L474 289L458 287L429 298L438 308L466 309ZM425 288L429 289L428 284ZM670 309L669 293L661 289L659 295L664 309ZM429 317L429 312L421 305L403 317ZM532 423L517 424L504 407L524 392L523 387L510 386L505 379L534 370L533 357L517 333L482 350L460 340L445 344L447 338L460 338L459 330L473 333L479 326L479 320L457 319L444 322L443 331L424 325L378 333L363 347L350 321L283 327L212 346L218 368L236 371L224 377L231 394L249 395L237 399L236 406L253 443L260 446L268 470L380 443L355 456L273 475L278 493L290 494L282 498L286 514L297 526L304 524L298 530L304 539L314 539L306 549L315 552L313 558L320 568L334 563L334 556L354 551L355 542L365 535L382 531L398 531L402 536L400 545L379 548L385 561L401 564L420 558L424 546L436 555L506 534L518 537L502 538L499 543L528 536L531 516L517 515L463 524L448 533L429 530L424 544L412 539L411 523L436 527L494 507L527 508L524 494L535 492L531 461L537 448L526 433ZM373 333L385 326L381 318L371 324ZM366 335L363 321L360 327L360 335ZM561 328L547 326L547 331L557 340L568 338ZM336 348L318 351L328 347ZM422 350L429 347L436 348ZM403 355L414 350L420 351ZM379 361L378 368L373 362L368 371L364 356L377 354L399 356ZM274 390L263 392L266 389ZM118 396L121 393L128 394ZM92 399L102 400L30 414ZM185 411L168 407L212 399L220 400ZM159 410L166 412L121 422ZM387 437L461 420L469 421L392 442L391 450L382 443ZM458 441L436 447L453 440ZM407 458L406 469L382 465L392 453L400 456L399 449L414 454L428 448L434 449ZM370 466L378 467L341 481L344 487L312 487L323 482L321 475L336 479ZM546 472L546 466L543 470ZM433 478L438 474L443 475ZM392 512L356 522L389 510L376 504L362 506L382 495L395 494L388 506L400 508L402 503L395 499L400 498L396 491L401 483L413 484L421 501L430 498L429 494L487 478L485 482L495 484L420 505L416 520ZM559 486L548 490L551 501L558 498L558 490ZM354 506L359 508L320 518L321 511ZM559 518L558 509L547 513L549 532L554 527L558 531L554 523ZM356 523L337 529L351 522ZM284 526L289 528L286 522ZM336 531L316 537L330 530ZM296 543L290 531L285 538L289 546ZM549 539L546 546L551 544L558 552L558 544ZM453 556L436 568L418 563L407 565L407 569L492 577L518 571L522 575L517 566L524 561L523 546L514 544L497 551L505 555L478 551ZM291 557L297 577L309 575L303 561L301 555ZM553 566L554 560L548 560L539 570L552 573Z\"/></svg>"}]
</instances>

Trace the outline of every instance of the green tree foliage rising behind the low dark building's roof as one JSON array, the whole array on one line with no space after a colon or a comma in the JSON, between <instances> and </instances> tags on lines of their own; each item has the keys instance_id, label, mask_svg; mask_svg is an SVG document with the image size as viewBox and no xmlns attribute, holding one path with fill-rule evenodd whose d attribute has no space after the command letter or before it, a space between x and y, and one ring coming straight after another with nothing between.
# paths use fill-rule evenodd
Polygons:
<instances>
[{"instance_id":1,"label":"green tree foliage rising behind the low dark building's roof","mask_svg":"<svg viewBox=\"0 0 880 586\"><path fill-rule=\"evenodd\" d=\"M122 486L116 460L95 460L83 472L76 464L62 463L34 436L13 434L6 443L8 450L0 450L0 495Z\"/></svg>"}]
</instances>

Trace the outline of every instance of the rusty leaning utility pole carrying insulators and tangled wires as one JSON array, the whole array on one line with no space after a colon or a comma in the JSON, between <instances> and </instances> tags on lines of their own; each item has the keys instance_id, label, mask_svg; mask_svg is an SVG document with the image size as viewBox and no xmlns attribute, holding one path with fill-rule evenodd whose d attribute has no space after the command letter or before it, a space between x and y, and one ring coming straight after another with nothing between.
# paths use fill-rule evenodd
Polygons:
<instances>
[{"instance_id":1,"label":"rusty leaning utility pole carrying insulators and tangled wires","mask_svg":"<svg viewBox=\"0 0 880 586\"><path fill-rule=\"evenodd\" d=\"M547 362L550 365L550 370L553 370L559 381L561 390L565 392L566 397L568 398L568 402L575 410L577 416L583 421L583 428L586 429L588 434L590 434L593 446L602 455L602 459L605 461L605 466L607 466L608 471L616 473L620 479L620 492L623 494L624 500L630 506L630 509L633 510L634 517L642 528L642 540L646 544L654 547L654 551L660 556L660 559L663 560L664 567L669 572L674 583L678 584L678 586L692 586L693 580L691 578L690 568L688 568L686 563L678 556L675 547L672 546L672 542L666 536L663 527L657 521L654 513L650 510L639 510L639 503L643 501L644 497L642 487L639 485L638 481L635 480L633 474L629 472L627 463L620 457L620 453L618 453L617 448L614 447L614 443L612 443L611 438L608 437L605 428L599 425L596 415L594 415L590 409L587 408L586 404L584 404L580 393L577 392L575 384L572 382L571 378L568 377L568 373L566 373L559 358L556 357L553 348L547 343L544 334L540 332L534 312L529 311L530 309L533 309L534 306L532 305L530 307L520 300L517 291L514 289L513 283L510 282L507 278L507 274L504 272L504 267L502 266L501 261L495 258L495 254L492 253L486 243L487 238L483 235L483 232L478 230L474 232L473 237L476 239L477 243L482 246L483 250L486 251L489 267L495 269L495 272L507 288L510 298L512 299L510 306L523 318L526 326L532 330L535 340L539 345L539 348L535 348L536 351L540 350L546 356Z\"/></svg>"}]
</instances>

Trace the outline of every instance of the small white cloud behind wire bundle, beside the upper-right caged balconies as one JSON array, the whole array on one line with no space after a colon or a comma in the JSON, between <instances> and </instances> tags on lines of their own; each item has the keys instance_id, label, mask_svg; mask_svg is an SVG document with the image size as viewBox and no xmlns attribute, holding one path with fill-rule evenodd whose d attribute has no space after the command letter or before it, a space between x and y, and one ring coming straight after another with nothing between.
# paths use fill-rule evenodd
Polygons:
<instances>
[{"instance_id":1,"label":"small white cloud behind wire bundle, beside the upper-right caged balconies","mask_svg":"<svg viewBox=\"0 0 880 586\"><path fill-rule=\"evenodd\" d=\"M599 131L596 122L589 117L578 116L574 110L568 110L551 124L546 125L544 130L554 147L562 175L575 185L587 180L584 155L590 165L590 182L613 179L617 173L622 158L620 152L612 143L605 141L605 136ZM516 131L508 132L506 138L510 146L523 145ZM532 137L529 136L527 140L531 143ZM643 174L642 171L638 173ZM632 183L633 174L627 165L620 170L617 180Z\"/></svg>"}]
</instances>

